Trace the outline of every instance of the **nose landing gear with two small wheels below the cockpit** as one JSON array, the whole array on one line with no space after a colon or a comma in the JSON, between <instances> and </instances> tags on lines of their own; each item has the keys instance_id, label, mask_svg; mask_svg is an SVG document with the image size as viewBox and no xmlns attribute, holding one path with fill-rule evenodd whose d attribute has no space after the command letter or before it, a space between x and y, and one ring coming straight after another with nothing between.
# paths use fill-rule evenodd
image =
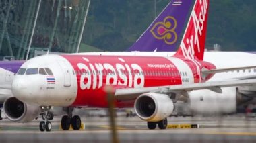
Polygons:
<instances>
[{"instance_id":1,"label":"nose landing gear with two small wheels below the cockpit","mask_svg":"<svg viewBox=\"0 0 256 143\"><path fill-rule=\"evenodd\" d=\"M49 132L52 129L52 124L51 124L51 122L49 122L49 120L53 119L53 116L50 113L50 109L51 109L50 106L42 107L42 110L43 110L43 113L44 113L44 115L42 115L42 117L44 116L44 121L41 121L40 124L39 124L40 131L42 131L42 132L44 130Z\"/></svg>"}]
</instances>

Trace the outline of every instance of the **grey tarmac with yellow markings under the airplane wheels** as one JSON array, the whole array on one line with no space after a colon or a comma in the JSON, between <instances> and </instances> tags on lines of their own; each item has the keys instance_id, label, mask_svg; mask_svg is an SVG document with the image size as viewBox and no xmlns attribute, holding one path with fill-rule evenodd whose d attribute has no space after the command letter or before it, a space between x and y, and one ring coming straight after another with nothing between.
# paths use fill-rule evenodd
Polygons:
<instances>
[{"instance_id":1,"label":"grey tarmac with yellow markings under the airplane wheels","mask_svg":"<svg viewBox=\"0 0 256 143\"><path fill-rule=\"evenodd\" d=\"M117 117L119 142L256 142L256 119L226 117L170 117L168 129L148 130L138 117ZM51 132L40 132L40 119L22 124L0 121L0 142L113 142L108 117L82 117L83 130L63 131L61 118ZM191 128L189 125L197 125Z\"/></svg>"}]
</instances>

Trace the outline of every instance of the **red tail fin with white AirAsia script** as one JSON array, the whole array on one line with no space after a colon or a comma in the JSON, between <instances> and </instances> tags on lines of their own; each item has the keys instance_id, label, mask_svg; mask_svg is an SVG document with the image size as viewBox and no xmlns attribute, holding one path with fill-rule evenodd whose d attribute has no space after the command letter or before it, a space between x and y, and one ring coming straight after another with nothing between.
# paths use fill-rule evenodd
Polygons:
<instances>
[{"instance_id":1,"label":"red tail fin with white AirAsia script","mask_svg":"<svg viewBox=\"0 0 256 143\"><path fill-rule=\"evenodd\" d=\"M203 60L209 0L196 0L175 57Z\"/></svg>"}]
</instances>

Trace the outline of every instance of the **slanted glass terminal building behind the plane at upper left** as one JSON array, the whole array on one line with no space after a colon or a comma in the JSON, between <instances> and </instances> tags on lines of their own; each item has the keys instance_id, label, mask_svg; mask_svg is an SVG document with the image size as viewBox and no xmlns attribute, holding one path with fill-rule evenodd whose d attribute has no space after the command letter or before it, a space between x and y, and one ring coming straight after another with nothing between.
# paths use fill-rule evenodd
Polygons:
<instances>
[{"instance_id":1,"label":"slanted glass terminal building behind the plane at upper left","mask_svg":"<svg viewBox=\"0 0 256 143\"><path fill-rule=\"evenodd\" d=\"M0 60L25 60L48 50L76 52L87 6L79 0L1 1Z\"/></svg>"}]
</instances>

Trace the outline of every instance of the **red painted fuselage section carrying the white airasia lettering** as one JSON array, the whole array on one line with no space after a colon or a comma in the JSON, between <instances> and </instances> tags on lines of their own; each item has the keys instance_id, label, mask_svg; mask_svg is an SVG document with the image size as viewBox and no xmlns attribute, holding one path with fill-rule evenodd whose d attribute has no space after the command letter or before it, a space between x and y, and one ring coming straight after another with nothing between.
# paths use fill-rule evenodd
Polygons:
<instances>
[{"instance_id":1,"label":"red painted fuselage section carrying the white airasia lettering","mask_svg":"<svg viewBox=\"0 0 256 143\"><path fill-rule=\"evenodd\" d=\"M163 57L82 55L63 55L63 57L71 63L77 75L77 98L73 106L107 107L106 93L102 91L102 87L107 83L114 87L135 88L181 84L177 67ZM90 75L86 70L89 70ZM119 72L120 70L122 72ZM118 102L117 106L125 107Z\"/></svg>"}]
</instances>

